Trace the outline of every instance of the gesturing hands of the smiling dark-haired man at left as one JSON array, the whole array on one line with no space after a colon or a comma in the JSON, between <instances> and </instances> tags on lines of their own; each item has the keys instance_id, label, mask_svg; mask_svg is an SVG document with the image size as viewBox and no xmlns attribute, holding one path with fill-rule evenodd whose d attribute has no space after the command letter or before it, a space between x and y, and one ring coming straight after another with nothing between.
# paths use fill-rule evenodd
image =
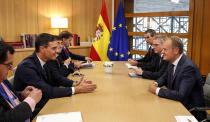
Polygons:
<instances>
[{"instance_id":1,"label":"gesturing hands of the smiling dark-haired man at left","mask_svg":"<svg viewBox=\"0 0 210 122\"><path fill-rule=\"evenodd\" d=\"M97 87L92 81L84 78L81 78L79 82L80 84L75 86L75 94L93 92Z\"/></svg>"}]
</instances>

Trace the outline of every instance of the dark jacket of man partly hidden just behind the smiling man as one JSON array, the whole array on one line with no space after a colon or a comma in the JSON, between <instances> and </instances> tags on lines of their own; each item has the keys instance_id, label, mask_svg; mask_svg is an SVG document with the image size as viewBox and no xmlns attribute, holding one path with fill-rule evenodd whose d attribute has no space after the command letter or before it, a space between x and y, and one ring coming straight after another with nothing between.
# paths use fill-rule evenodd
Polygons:
<instances>
[{"instance_id":1,"label":"dark jacket of man partly hidden just behind the smiling man","mask_svg":"<svg viewBox=\"0 0 210 122\"><path fill-rule=\"evenodd\" d=\"M64 60L60 55L57 57L57 64L60 74L64 77L67 77L70 73L75 71L75 68L71 65L71 63L69 64L68 68L64 65Z\"/></svg>"}]
</instances>

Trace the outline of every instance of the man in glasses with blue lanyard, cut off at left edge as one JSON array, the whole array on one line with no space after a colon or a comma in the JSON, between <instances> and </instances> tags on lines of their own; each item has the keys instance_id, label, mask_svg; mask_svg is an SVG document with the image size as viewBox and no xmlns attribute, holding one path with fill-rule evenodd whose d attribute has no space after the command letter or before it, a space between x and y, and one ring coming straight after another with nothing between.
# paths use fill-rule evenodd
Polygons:
<instances>
[{"instance_id":1,"label":"man in glasses with blue lanyard, cut off at left edge","mask_svg":"<svg viewBox=\"0 0 210 122\"><path fill-rule=\"evenodd\" d=\"M14 49L0 41L0 121L28 122L36 104L42 98L41 90L32 86L17 93L7 81L8 71L12 69Z\"/></svg>"}]
</instances>

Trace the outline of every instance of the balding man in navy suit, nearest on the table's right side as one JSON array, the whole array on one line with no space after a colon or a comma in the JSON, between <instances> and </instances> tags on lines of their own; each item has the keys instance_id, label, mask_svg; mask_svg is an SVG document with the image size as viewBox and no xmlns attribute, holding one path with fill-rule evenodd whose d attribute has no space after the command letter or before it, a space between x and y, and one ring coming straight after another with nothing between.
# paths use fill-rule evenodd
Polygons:
<instances>
[{"instance_id":1,"label":"balding man in navy suit, nearest on the table's right side","mask_svg":"<svg viewBox=\"0 0 210 122\"><path fill-rule=\"evenodd\" d=\"M149 91L164 98L180 101L188 110L204 106L201 74L197 66L183 54L183 43L177 36L163 44L164 60L171 62L167 71L153 84ZM168 89L160 88L163 85ZM205 112L192 113L199 121L206 118Z\"/></svg>"}]
</instances>

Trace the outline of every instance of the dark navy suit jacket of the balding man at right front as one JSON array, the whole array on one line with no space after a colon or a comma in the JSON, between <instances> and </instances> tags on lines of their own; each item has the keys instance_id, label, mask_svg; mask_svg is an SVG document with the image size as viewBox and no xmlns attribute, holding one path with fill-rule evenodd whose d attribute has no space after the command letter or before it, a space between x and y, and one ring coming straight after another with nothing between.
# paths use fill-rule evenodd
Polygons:
<instances>
[{"instance_id":1,"label":"dark navy suit jacket of the balding man at right front","mask_svg":"<svg viewBox=\"0 0 210 122\"><path fill-rule=\"evenodd\" d=\"M158 96L180 101L187 109L204 106L203 87L201 74L197 66L183 55L178 62L172 77L172 64L156 82L161 87Z\"/></svg>"}]
</instances>

